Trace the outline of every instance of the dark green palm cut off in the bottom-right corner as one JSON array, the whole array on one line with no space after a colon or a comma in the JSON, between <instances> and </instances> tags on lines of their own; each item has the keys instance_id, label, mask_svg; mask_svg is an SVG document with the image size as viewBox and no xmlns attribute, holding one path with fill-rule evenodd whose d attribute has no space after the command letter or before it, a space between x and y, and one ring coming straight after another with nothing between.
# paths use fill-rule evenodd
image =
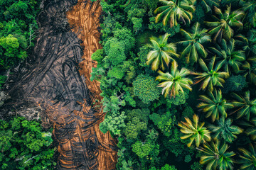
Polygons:
<instances>
[{"instance_id":1,"label":"dark green palm cut off in the bottom-right corner","mask_svg":"<svg viewBox=\"0 0 256 170\"><path fill-rule=\"evenodd\" d=\"M242 152L239 157L240 160L238 160L239 164L242 164L240 166L240 169L242 170L256 170L256 149L255 145L250 144L248 147L248 150L245 148L238 148L240 152Z\"/></svg>"}]
</instances>

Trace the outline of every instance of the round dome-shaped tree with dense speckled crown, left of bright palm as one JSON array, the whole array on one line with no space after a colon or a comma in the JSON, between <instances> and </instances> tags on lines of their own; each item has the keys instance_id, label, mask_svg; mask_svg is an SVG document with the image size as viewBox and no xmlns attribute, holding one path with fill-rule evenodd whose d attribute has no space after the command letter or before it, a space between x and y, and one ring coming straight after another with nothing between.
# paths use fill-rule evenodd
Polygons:
<instances>
[{"instance_id":1,"label":"round dome-shaped tree with dense speckled crown, left of bright palm","mask_svg":"<svg viewBox=\"0 0 256 170\"><path fill-rule=\"evenodd\" d=\"M138 96L144 103L149 103L159 98L161 89L157 87L158 82L154 81L154 77L147 74L140 74L132 83L134 94Z\"/></svg>"}]
</instances>

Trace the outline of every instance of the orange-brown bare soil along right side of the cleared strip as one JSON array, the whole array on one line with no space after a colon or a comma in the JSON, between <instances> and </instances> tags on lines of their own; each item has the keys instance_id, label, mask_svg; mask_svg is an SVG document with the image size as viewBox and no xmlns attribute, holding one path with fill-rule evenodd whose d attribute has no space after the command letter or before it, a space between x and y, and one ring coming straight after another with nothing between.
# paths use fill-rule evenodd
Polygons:
<instances>
[{"instance_id":1,"label":"orange-brown bare soil along right side of the cleared strip","mask_svg":"<svg viewBox=\"0 0 256 170\"><path fill-rule=\"evenodd\" d=\"M100 27L100 15L102 13L102 8L100 6L100 1L91 3L86 0L78 0L78 4L73 6L73 8L68 11L67 18L70 26L73 28L73 32L78 33L78 38L82 40L82 47L84 47L84 55L82 56L83 61L80 63L80 74L85 76L85 83L92 93L92 101L95 99L100 101L102 97L100 93L100 82L90 81L90 73L92 72L92 67L96 67L97 63L91 59L91 55L97 49L101 48L100 32L98 28ZM96 102L95 102L96 103ZM97 103L99 104L99 103ZM98 109L102 115L102 109ZM113 139L110 132L107 134L102 134L99 129L99 124L103 121L104 116L97 121L94 126L94 130L97 133L97 138L99 142L102 143L113 143ZM111 141L111 142L110 142ZM102 149L99 150L99 156L97 157L99 162L99 169L114 169L114 164L116 162L117 153L116 152L106 152Z\"/></svg>"}]
</instances>

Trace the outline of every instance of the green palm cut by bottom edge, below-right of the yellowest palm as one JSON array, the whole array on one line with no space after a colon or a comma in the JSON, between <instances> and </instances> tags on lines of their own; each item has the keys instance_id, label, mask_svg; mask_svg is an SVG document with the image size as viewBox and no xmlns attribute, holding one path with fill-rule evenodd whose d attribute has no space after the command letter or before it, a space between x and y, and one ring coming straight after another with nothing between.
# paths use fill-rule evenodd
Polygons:
<instances>
[{"instance_id":1,"label":"green palm cut by bottom edge, below-right of the yellowest palm","mask_svg":"<svg viewBox=\"0 0 256 170\"><path fill-rule=\"evenodd\" d=\"M233 151L227 152L227 144L220 145L219 140L216 140L216 142L211 141L210 145L206 143L203 147L199 147L198 150L203 152L200 163L207 164L206 170L233 169L234 160L232 157L235 156L235 153Z\"/></svg>"}]
</instances>

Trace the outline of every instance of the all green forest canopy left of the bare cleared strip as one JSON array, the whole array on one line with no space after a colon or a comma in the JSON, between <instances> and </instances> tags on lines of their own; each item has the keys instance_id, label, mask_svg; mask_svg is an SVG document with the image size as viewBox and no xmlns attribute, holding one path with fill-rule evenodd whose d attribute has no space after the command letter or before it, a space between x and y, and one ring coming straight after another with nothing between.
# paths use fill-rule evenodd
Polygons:
<instances>
[{"instance_id":1,"label":"all green forest canopy left of the bare cleared strip","mask_svg":"<svg viewBox=\"0 0 256 170\"><path fill-rule=\"evenodd\" d=\"M40 3L0 1L0 89L7 79L6 72L33 51ZM0 93L1 112L4 93ZM40 120L29 121L19 116L0 120L0 169L54 169L56 148L51 131L42 128Z\"/></svg>"}]
</instances>

